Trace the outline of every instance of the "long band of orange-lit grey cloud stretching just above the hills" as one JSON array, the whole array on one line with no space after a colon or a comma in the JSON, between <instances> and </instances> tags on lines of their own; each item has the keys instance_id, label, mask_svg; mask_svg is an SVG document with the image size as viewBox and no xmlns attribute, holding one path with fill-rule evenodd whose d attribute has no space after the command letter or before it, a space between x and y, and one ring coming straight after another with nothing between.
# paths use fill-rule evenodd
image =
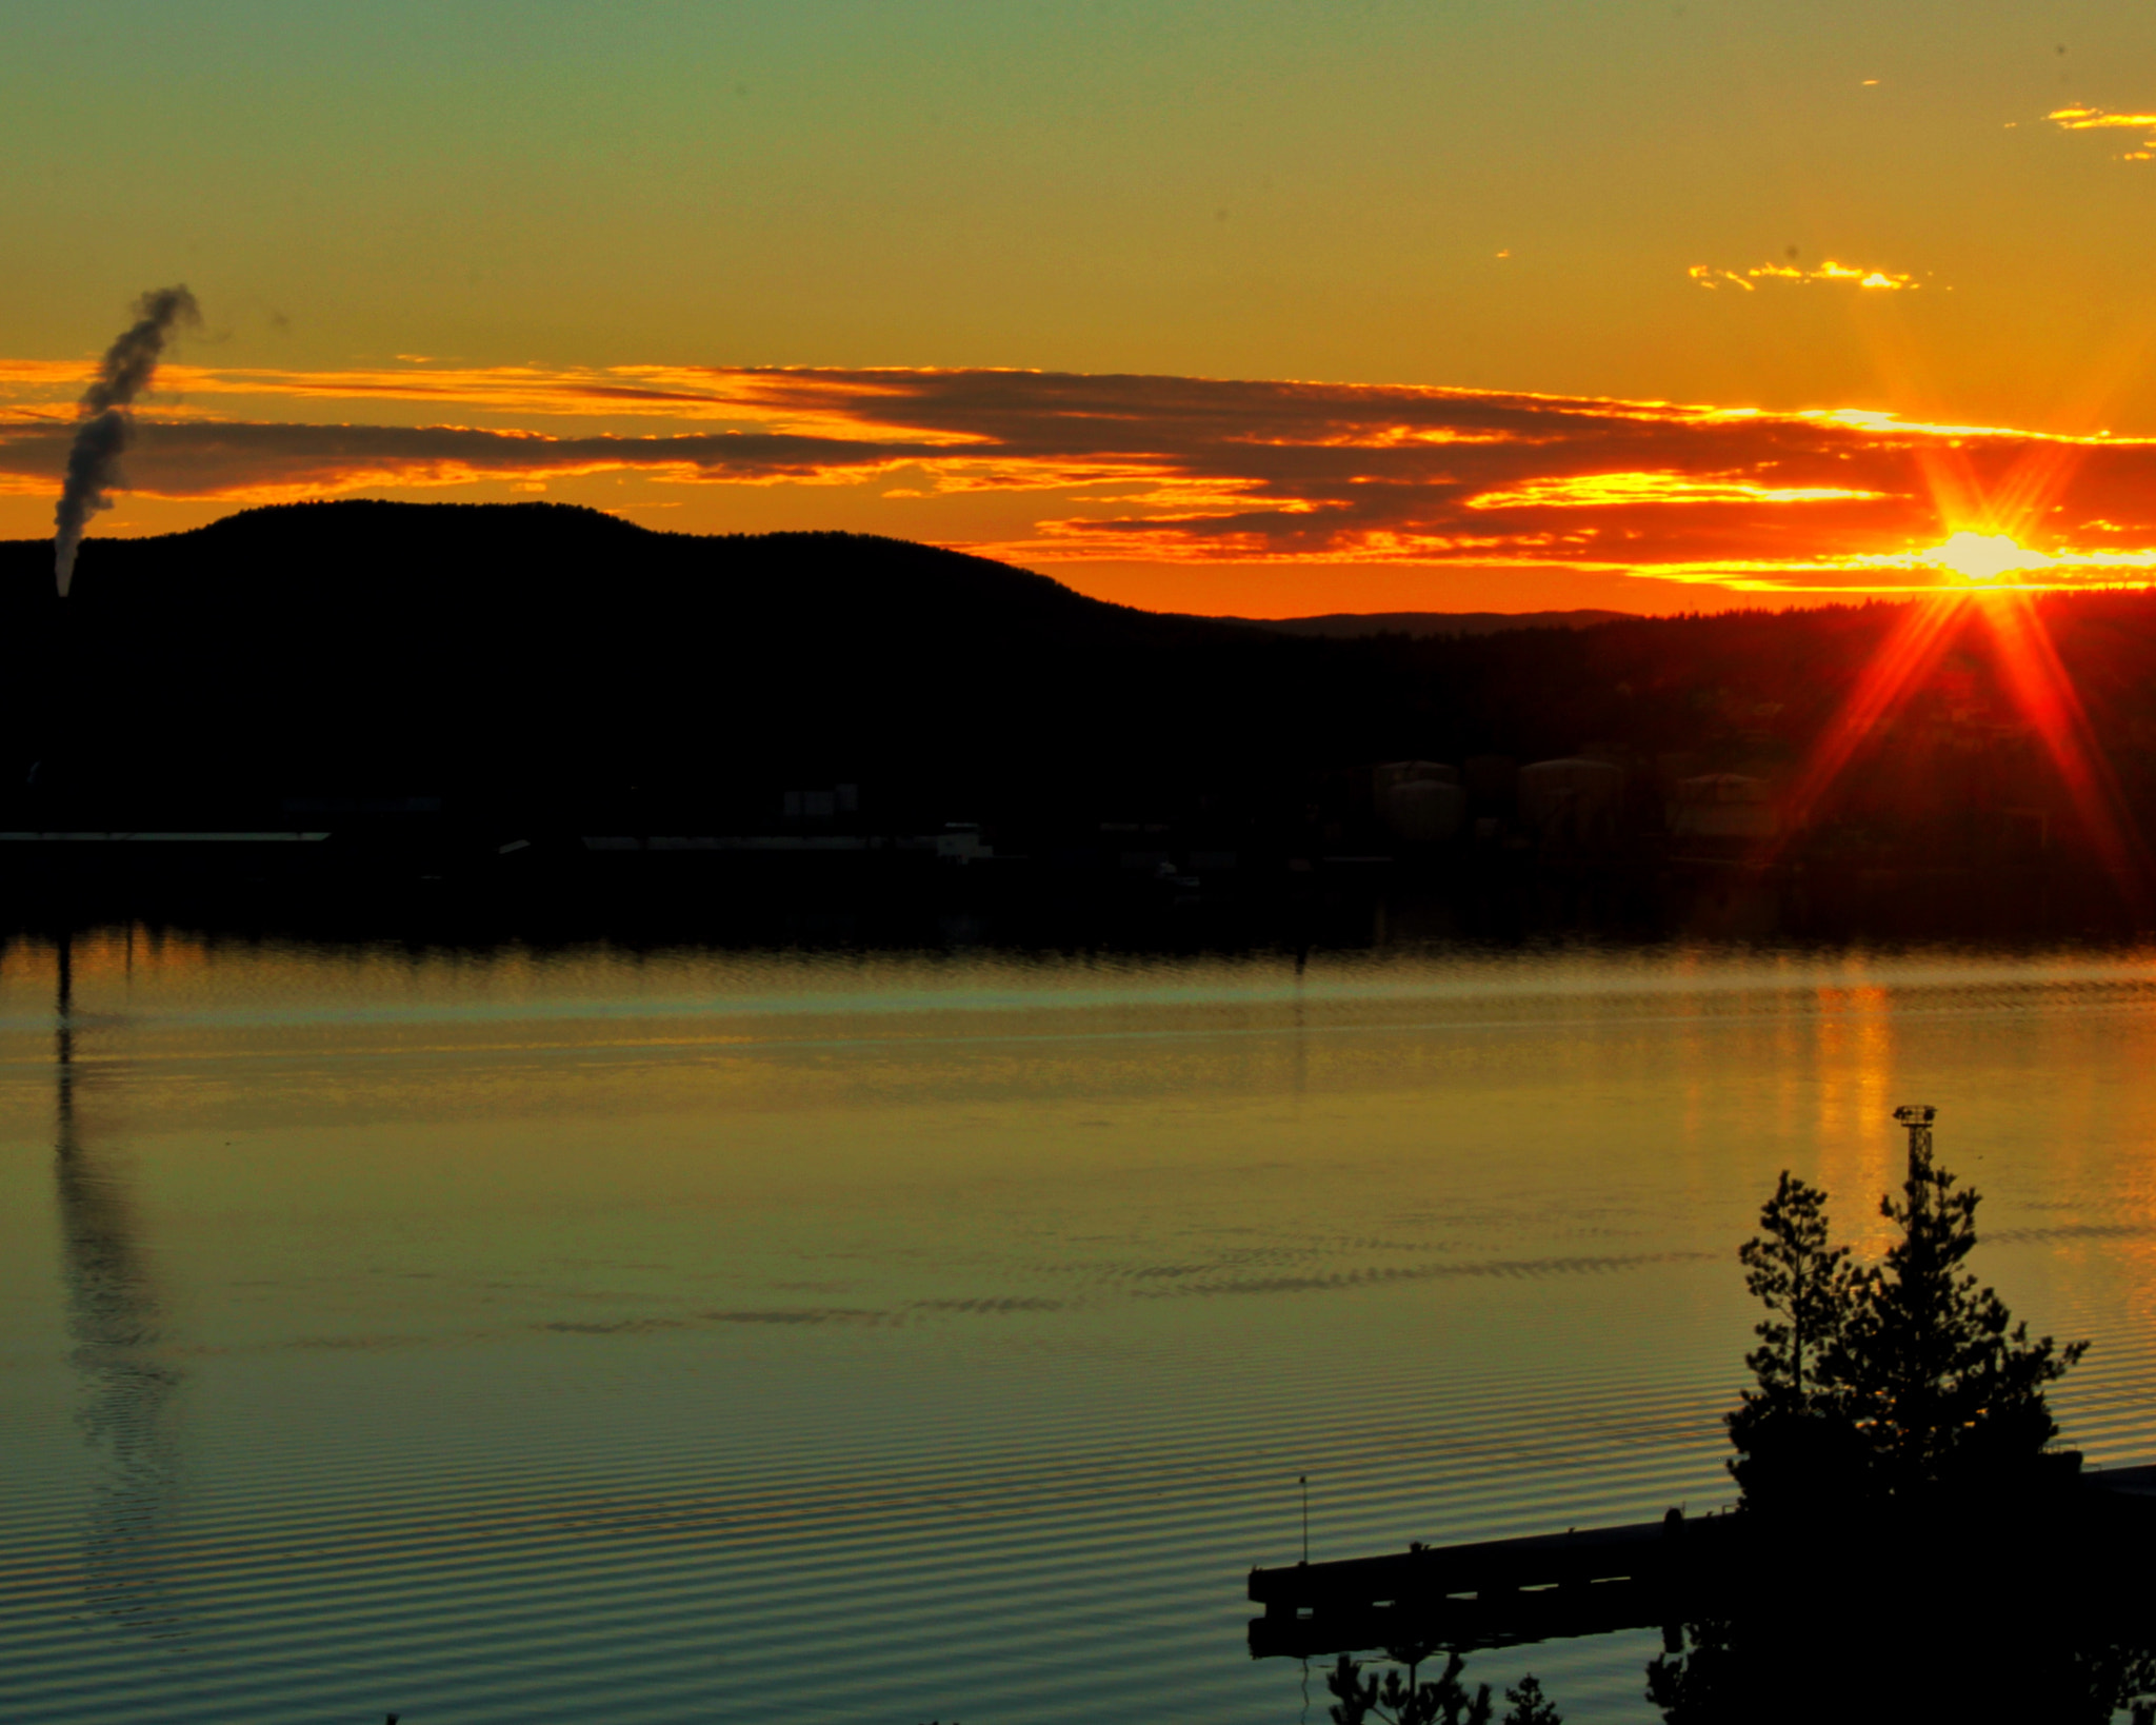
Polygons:
<instances>
[{"instance_id":1,"label":"long band of orange-lit grey cloud stretching just above the hills","mask_svg":"<svg viewBox=\"0 0 2156 1725\"><path fill-rule=\"evenodd\" d=\"M80 380L0 362L0 492L56 489ZM175 369L172 384L188 412L147 416L127 457L155 498L593 474L716 494L843 485L854 524L1022 563L1544 569L1755 593L1930 589L1945 576L1925 548L1964 528L2012 530L2044 584L2143 580L2156 561L2156 440L1861 410L1039 371ZM244 399L293 405L203 405ZM289 416L390 399L524 423ZM619 412L625 429L589 429ZM1986 498L2012 498L2014 520L1988 522Z\"/></svg>"}]
</instances>

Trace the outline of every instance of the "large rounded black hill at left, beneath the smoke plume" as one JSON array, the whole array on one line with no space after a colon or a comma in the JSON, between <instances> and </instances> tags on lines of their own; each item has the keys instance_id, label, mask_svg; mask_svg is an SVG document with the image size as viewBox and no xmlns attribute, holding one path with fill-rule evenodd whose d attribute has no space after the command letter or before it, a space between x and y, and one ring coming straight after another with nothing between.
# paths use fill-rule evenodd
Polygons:
<instances>
[{"instance_id":1,"label":"large rounded black hill at left, beneath the smoke plume","mask_svg":"<svg viewBox=\"0 0 2156 1725\"><path fill-rule=\"evenodd\" d=\"M651 533L561 505L323 502L0 546L11 778L84 794L446 789L763 806L856 778L940 813L1304 742L1324 649L839 533ZM1324 727L1317 727L1319 733Z\"/></svg>"}]
</instances>

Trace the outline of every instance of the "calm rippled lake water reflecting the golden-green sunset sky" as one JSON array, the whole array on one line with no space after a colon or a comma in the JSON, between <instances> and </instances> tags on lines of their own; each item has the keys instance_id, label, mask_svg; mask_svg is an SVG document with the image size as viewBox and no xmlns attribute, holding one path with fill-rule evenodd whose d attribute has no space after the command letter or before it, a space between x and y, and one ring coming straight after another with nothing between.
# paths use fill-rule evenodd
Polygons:
<instances>
[{"instance_id":1,"label":"calm rippled lake water reflecting the golden-green sunset sky","mask_svg":"<svg viewBox=\"0 0 2156 1725\"><path fill-rule=\"evenodd\" d=\"M0 957L0 1716L1322 1721L1300 1550L1733 1492L1897 1102L2156 1460L2156 953ZM1651 1721L1656 1634L1479 1654Z\"/></svg>"}]
</instances>

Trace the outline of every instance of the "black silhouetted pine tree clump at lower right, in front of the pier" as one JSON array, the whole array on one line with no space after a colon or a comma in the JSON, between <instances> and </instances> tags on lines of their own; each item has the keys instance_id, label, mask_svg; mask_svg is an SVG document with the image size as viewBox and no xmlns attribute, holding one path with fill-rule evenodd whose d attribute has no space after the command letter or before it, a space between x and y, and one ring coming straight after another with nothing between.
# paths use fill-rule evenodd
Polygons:
<instances>
[{"instance_id":1,"label":"black silhouetted pine tree clump at lower right, in front of the pier","mask_svg":"<svg viewBox=\"0 0 2156 1725\"><path fill-rule=\"evenodd\" d=\"M2031 1339L1977 1283L1977 1205L1912 1126L1874 1266L1826 1195L1781 1175L1740 1253L1766 1305L1729 1414L1742 1561L1647 1667L1669 1725L2046 1721L2102 1725L2156 1686L2141 1540L2078 1492L2046 1389L2087 1350ZM1971 1492L1975 1490L1975 1501ZM2150 1714L2145 1725L2156 1725Z\"/></svg>"}]
</instances>

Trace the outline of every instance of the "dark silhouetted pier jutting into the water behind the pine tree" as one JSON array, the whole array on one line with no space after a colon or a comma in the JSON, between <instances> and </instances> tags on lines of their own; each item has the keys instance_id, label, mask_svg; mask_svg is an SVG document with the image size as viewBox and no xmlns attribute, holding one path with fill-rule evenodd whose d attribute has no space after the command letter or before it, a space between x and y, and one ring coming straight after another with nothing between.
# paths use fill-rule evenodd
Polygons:
<instances>
[{"instance_id":1,"label":"dark silhouetted pier jutting into the water behind the pine tree","mask_svg":"<svg viewBox=\"0 0 2156 1725\"><path fill-rule=\"evenodd\" d=\"M2156 1466L2081 1475L2061 1531L2106 1548L2124 1535L2139 1568L2156 1546ZM1746 1518L1585 1527L1388 1557L1250 1570L1250 1658L1313 1658L1416 1641L1503 1647L1574 1634L1662 1628L1695 1617L1746 1557ZM2117 1552L2109 1552L2117 1555Z\"/></svg>"}]
</instances>

